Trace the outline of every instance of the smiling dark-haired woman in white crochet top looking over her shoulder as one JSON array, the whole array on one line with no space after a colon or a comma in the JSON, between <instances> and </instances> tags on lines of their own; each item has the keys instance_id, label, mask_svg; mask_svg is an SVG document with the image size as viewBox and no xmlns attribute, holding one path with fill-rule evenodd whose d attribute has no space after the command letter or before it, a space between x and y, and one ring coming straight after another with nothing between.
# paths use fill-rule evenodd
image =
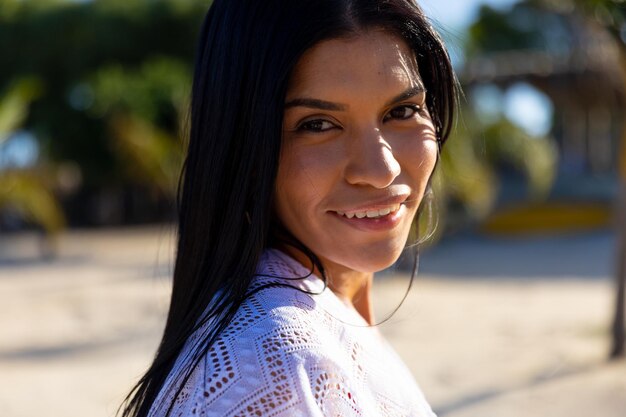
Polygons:
<instances>
[{"instance_id":1,"label":"smiling dark-haired woman in white crochet top looking over her shoulder","mask_svg":"<svg viewBox=\"0 0 626 417\"><path fill-rule=\"evenodd\" d=\"M450 130L412 0L215 0L202 29L161 345L125 416L430 416L382 340Z\"/></svg>"}]
</instances>

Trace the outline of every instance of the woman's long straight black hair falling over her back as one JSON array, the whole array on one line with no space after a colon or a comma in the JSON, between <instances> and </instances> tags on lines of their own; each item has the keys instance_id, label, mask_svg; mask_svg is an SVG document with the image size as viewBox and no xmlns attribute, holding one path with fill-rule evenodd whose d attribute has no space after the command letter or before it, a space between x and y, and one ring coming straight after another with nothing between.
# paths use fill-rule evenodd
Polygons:
<instances>
[{"instance_id":1,"label":"woman's long straight black hair falling over her back","mask_svg":"<svg viewBox=\"0 0 626 417\"><path fill-rule=\"evenodd\" d=\"M295 64L322 40L368 28L400 36L413 49L442 145L456 82L441 39L414 0L213 1L197 49L169 314L123 416L148 414L185 342L210 320L196 359L206 354L248 295L262 251L276 239L272 199Z\"/></svg>"}]
</instances>

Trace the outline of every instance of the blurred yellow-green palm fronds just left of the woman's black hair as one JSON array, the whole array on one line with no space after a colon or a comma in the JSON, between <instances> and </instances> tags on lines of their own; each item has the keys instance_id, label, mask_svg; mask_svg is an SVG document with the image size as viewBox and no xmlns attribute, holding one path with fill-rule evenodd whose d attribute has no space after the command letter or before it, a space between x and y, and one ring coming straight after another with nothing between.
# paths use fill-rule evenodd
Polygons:
<instances>
[{"instance_id":1,"label":"blurred yellow-green palm fronds just left of the woman's black hair","mask_svg":"<svg viewBox=\"0 0 626 417\"><path fill-rule=\"evenodd\" d=\"M128 177L173 198L184 154L188 67L173 58L154 58L138 69L102 68L88 83L95 96L89 111L107 121Z\"/></svg>"}]
</instances>

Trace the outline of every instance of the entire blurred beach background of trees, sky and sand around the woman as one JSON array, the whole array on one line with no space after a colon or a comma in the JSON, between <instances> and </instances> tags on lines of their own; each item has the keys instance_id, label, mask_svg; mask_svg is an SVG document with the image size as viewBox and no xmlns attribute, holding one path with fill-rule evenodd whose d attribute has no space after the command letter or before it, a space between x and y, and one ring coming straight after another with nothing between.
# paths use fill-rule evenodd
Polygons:
<instances>
[{"instance_id":1,"label":"entire blurred beach background of trees, sky and sand around the woman","mask_svg":"<svg viewBox=\"0 0 626 417\"><path fill-rule=\"evenodd\" d=\"M439 416L623 417L626 2L419 3L464 95L381 331ZM0 415L112 416L150 362L209 4L0 0Z\"/></svg>"}]
</instances>

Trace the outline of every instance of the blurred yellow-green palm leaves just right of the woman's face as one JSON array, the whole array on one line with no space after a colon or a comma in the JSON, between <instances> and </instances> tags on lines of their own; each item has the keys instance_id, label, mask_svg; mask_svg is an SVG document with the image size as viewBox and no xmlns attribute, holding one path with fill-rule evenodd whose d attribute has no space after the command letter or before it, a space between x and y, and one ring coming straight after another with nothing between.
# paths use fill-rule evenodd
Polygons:
<instances>
[{"instance_id":1,"label":"blurred yellow-green palm leaves just right of the woman's face","mask_svg":"<svg viewBox=\"0 0 626 417\"><path fill-rule=\"evenodd\" d=\"M465 123L448 139L433 181L440 223L449 221L451 201L460 204L470 220L484 220L494 208L502 167L526 178L529 199L547 196L558 165L553 139L529 135L504 117L483 124L469 109L462 117Z\"/></svg>"}]
</instances>

